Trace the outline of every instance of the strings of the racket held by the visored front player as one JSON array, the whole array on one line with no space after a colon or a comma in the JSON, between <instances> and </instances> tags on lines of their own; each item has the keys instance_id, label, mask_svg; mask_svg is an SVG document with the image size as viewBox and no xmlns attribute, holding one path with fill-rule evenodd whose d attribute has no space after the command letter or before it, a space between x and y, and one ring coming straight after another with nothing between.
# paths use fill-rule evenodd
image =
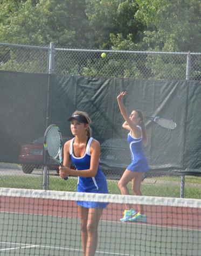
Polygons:
<instances>
[{"instance_id":1,"label":"strings of the racket held by the visored front player","mask_svg":"<svg viewBox=\"0 0 201 256\"><path fill-rule=\"evenodd\" d=\"M59 155L61 145L61 135L58 127L52 127L46 137L48 154L56 158Z\"/></svg>"}]
</instances>

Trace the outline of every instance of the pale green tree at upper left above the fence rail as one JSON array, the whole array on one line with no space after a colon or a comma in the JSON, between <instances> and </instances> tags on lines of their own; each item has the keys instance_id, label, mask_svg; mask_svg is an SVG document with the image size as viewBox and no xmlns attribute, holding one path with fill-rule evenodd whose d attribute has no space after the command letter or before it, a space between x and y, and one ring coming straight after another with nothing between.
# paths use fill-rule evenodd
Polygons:
<instances>
[{"instance_id":1,"label":"pale green tree at upper left above the fence rail","mask_svg":"<svg viewBox=\"0 0 201 256\"><path fill-rule=\"evenodd\" d=\"M10 1L12 2L12 1ZM0 41L61 47L86 47L85 0L2 2Z\"/></svg>"}]
</instances>

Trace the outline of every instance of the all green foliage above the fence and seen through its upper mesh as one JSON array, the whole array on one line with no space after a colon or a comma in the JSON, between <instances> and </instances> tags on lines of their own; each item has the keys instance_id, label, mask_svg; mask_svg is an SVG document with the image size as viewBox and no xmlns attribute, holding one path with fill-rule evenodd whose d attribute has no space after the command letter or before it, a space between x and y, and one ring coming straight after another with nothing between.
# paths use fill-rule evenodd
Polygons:
<instances>
[{"instance_id":1,"label":"all green foliage above the fence and seen through its upper mesh","mask_svg":"<svg viewBox=\"0 0 201 256\"><path fill-rule=\"evenodd\" d=\"M1 0L0 3L0 41L5 43L47 46L53 41L56 47L63 48L200 51L199 0ZM9 54L0 49L0 59L5 57L1 69L34 72L34 67L41 63L39 57L27 61ZM142 58L89 58L85 63L78 58L66 64L65 58L58 57L55 70L136 79L164 79L169 71L172 74L169 79L178 79L176 73L182 74L182 79L185 77L186 60L177 63L176 59L161 56ZM201 76L199 62L194 60L191 69L195 80ZM44 70L39 68L38 72L46 72L46 64L44 66Z\"/></svg>"}]
</instances>

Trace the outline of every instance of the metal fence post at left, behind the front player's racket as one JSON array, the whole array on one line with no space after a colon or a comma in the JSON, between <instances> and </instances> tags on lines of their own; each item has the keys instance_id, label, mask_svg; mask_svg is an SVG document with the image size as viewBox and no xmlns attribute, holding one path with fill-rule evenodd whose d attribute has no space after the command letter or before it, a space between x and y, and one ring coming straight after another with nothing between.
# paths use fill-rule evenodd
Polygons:
<instances>
[{"instance_id":1,"label":"metal fence post at left, behind the front player's racket","mask_svg":"<svg viewBox=\"0 0 201 256\"><path fill-rule=\"evenodd\" d=\"M47 84L47 107L46 107L46 128L50 122L50 95L51 95L51 88L50 88L50 79L51 74L54 72L54 44L50 43L49 48L49 65L48 65L48 84ZM48 189L48 167L47 167L47 154L44 151L44 169L42 173L43 179L43 190Z\"/></svg>"}]
</instances>

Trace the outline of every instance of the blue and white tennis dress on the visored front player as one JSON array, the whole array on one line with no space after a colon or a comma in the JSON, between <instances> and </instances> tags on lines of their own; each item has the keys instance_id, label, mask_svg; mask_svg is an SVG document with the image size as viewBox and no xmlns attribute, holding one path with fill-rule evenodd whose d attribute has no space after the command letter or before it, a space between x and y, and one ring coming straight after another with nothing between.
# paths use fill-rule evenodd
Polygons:
<instances>
[{"instance_id":1,"label":"blue and white tennis dress on the visored front player","mask_svg":"<svg viewBox=\"0 0 201 256\"><path fill-rule=\"evenodd\" d=\"M87 170L90 168L91 162L91 153L90 153L90 145L93 140L91 137L88 140L85 155L82 157L76 157L73 154L73 142L72 139L70 144L70 156L71 160L74 163L77 170ZM106 177L98 168L98 171L95 177L78 177L78 192L89 192L89 193L108 193ZM100 202L86 202L86 201L77 201L78 205L87 208L106 208L107 203Z\"/></svg>"}]
</instances>

